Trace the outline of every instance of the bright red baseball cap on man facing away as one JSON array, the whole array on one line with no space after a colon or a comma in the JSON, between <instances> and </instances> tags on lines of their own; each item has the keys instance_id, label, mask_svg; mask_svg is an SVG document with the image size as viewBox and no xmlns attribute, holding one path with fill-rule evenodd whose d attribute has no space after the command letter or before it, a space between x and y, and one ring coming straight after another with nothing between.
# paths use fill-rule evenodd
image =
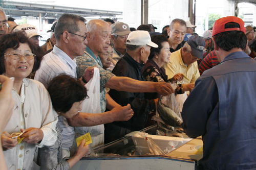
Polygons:
<instances>
[{"instance_id":1,"label":"bright red baseball cap on man facing away","mask_svg":"<svg viewBox=\"0 0 256 170\"><path fill-rule=\"evenodd\" d=\"M228 22L236 22L239 24L240 28L228 28L225 29L225 24ZM212 29L212 36L226 32L226 31L242 31L245 33L246 29L244 27L244 21L236 16L227 16L220 18L214 22L214 28Z\"/></svg>"}]
</instances>

